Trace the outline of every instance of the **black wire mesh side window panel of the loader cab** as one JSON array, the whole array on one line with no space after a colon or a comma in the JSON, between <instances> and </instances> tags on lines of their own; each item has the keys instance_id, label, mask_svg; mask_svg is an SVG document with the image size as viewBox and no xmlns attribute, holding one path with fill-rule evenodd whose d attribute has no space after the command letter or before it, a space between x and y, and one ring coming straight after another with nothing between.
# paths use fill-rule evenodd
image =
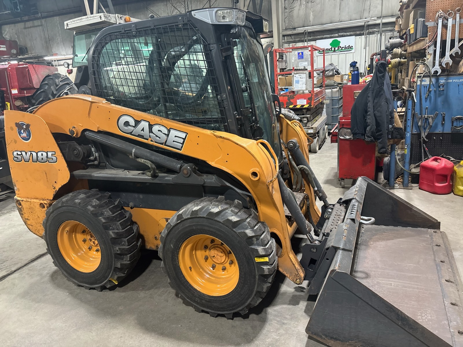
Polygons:
<instances>
[{"instance_id":1,"label":"black wire mesh side window panel of the loader cab","mask_svg":"<svg viewBox=\"0 0 463 347\"><path fill-rule=\"evenodd\" d=\"M227 131L208 45L191 23L111 33L94 50L96 95L156 116Z\"/></svg>"}]
</instances>

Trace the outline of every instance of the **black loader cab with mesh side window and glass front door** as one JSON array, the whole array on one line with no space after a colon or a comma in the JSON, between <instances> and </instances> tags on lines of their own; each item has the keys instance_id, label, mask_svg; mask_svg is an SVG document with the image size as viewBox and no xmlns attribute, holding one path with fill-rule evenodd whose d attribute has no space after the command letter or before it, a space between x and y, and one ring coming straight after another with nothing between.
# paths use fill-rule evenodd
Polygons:
<instances>
[{"instance_id":1,"label":"black loader cab with mesh side window and glass front door","mask_svg":"<svg viewBox=\"0 0 463 347\"><path fill-rule=\"evenodd\" d=\"M261 16L236 8L107 27L87 54L92 93L208 130L263 138L281 159L278 98L259 38L266 31Z\"/></svg>"}]
</instances>

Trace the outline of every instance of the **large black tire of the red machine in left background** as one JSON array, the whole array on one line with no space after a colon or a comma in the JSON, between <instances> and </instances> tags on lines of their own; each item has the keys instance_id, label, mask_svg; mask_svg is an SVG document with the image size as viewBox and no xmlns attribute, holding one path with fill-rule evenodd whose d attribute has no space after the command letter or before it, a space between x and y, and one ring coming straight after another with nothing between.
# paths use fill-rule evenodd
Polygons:
<instances>
[{"instance_id":1,"label":"large black tire of the red machine in left background","mask_svg":"<svg viewBox=\"0 0 463 347\"><path fill-rule=\"evenodd\" d=\"M49 74L45 76L40 87L32 94L32 106L42 105L51 99L76 93L77 87L69 77L62 74Z\"/></svg>"}]
</instances>

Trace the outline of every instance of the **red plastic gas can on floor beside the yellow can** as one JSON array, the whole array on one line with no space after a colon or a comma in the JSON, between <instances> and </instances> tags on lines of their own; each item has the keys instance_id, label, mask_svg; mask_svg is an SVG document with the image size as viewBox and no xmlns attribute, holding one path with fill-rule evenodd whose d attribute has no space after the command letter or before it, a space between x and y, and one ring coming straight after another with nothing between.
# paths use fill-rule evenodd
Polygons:
<instances>
[{"instance_id":1,"label":"red plastic gas can on floor beside the yellow can","mask_svg":"<svg viewBox=\"0 0 463 347\"><path fill-rule=\"evenodd\" d=\"M445 158L432 157L423 161L419 166L419 189L433 194L449 194L452 173L453 163Z\"/></svg>"}]
</instances>

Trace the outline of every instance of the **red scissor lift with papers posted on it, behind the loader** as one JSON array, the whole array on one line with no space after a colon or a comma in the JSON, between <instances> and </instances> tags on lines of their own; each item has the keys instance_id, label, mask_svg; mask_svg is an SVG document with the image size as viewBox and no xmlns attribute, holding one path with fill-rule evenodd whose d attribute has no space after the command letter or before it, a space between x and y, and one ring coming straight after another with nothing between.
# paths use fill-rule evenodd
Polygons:
<instances>
[{"instance_id":1,"label":"red scissor lift with papers posted on it, behind the loader","mask_svg":"<svg viewBox=\"0 0 463 347\"><path fill-rule=\"evenodd\" d=\"M325 50L314 45L275 49L275 93L282 107L300 117L306 133L313 138L310 146L317 152L328 135L326 116L322 116L325 100ZM323 58L323 67L314 68L315 55ZM288 56L290 58L288 59ZM319 72L319 77L316 73ZM319 85L319 87L315 87Z\"/></svg>"}]
</instances>

